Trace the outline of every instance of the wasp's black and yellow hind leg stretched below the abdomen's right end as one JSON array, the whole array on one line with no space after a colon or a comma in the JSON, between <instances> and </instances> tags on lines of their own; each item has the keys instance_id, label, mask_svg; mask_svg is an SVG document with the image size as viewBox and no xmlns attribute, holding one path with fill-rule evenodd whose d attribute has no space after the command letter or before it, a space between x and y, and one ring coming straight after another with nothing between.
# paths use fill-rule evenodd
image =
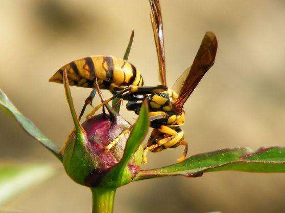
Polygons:
<instances>
[{"instance_id":1,"label":"wasp's black and yellow hind leg stretched below the abdomen's right end","mask_svg":"<svg viewBox=\"0 0 285 213\"><path fill-rule=\"evenodd\" d=\"M97 105L96 107L94 107L94 109L91 111L90 114L88 114L86 116L86 118L87 119L90 118L103 105L106 105L108 102L110 102L111 100L113 100L116 97L123 96L124 93L127 93L128 96L131 96L132 94L150 94L150 93L162 92L165 90L167 90L167 87L164 85L158 85L156 87L138 87L138 86L131 85L131 86L127 87L126 89L119 91L117 94L113 95L112 97L108 98L107 100L104 100L101 104ZM128 100L128 98L129 98L128 96L123 96L123 99L126 98L126 100Z\"/></svg>"}]
</instances>

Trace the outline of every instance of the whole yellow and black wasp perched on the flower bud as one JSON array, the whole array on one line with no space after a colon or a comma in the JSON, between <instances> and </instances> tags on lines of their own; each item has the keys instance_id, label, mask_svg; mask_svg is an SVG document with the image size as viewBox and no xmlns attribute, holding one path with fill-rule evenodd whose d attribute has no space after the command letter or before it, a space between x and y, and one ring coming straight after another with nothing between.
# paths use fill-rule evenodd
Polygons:
<instances>
[{"instance_id":1,"label":"whole yellow and black wasp perched on the flower bud","mask_svg":"<svg viewBox=\"0 0 285 213\"><path fill-rule=\"evenodd\" d=\"M174 148L179 145L185 146L182 156L177 159L178 161L183 161L187 154L187 143L184 141L184 132L180 128L184 124L183 105L204 74L215 62L218 47L217 38L215 34L206 32L192 66L186 69L175 83L174 88L180 88L177 90L178 93L168 89L159 0L149 0L149 2L152 11L151 23L157 50L161 85L156 87L143 86L143 78L132 64L111 56L87 57L70 62L60 68L50 81L63 83L62 72L65 69L67 70L70 85L96 88L98 91L100 89L108 89L114 94L107 100L103 100L101 97L102 103L95 107L87 118L117 97L127 100L127 109L138 114L142 101L146 99L149 104L149 115L153 131L145 148L145 162L148 151L159 152L165 148ZM94 93L92 92L92 95L90 94L88 98L93 97ZM86 99L86 104L90 103L88 98ZM111 114L112 112L109 111L109 113ZM124 131L122 135L126 134L126 132ZM115 142L116 140L111 142L106 148L110 149Z\"/></svg>"}]
</instances>

